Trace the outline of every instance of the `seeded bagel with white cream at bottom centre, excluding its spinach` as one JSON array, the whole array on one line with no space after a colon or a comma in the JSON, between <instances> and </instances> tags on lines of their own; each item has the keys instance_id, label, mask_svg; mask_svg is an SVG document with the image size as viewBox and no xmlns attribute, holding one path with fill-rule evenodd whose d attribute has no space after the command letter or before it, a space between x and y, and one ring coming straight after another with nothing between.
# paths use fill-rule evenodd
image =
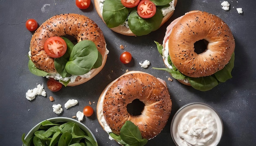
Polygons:
<instances>
[{"instance_id":1,"label":"seeded bagel with white cream at bottom centre, excluding its spinach","mask_svg":"<svg viewBox=\"0 0 256 146\"><path fill-rule=\"evenodd\" d=\"M140 115L127 111L127 105L136 99L145 105ZM119 135L124 123L131 121L143 138L152 139L166 125L171 108L165 81L141 71L129 71L103 90L97 103L97 118L108 133Z\"/></svg>"}]
</instances>

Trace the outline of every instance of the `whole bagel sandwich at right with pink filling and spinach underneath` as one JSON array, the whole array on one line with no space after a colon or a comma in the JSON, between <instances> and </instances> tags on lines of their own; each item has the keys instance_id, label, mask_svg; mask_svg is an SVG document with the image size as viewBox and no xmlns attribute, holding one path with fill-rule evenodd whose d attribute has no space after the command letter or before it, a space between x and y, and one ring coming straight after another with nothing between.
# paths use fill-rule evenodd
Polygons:
<instances>
[{"instance_id":1,"label":"whole bagel sandwich at right with pink filling and spinach underneath","mask_svg":"<svg viewBox=\"0 0 256 146\"><path fill-rule=\"evenodd\" d=\"M194 44L200 40L206 49L196 53ZM182 84L208 91L232 77L234 36L216 15L190 11L175 19L166 28L162 46L164 64Z\"/></svg>"}]
</instances>

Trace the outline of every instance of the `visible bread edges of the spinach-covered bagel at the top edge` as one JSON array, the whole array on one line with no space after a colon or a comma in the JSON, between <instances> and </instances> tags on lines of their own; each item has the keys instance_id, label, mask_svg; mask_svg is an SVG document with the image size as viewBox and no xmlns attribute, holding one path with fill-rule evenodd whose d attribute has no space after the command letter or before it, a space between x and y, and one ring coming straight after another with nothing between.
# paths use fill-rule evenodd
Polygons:
<instances>
[{"instance_id":1,"label":"visible bread edges of the spinach-covered bagel at the top edge","mask_svg":"<svg viewBox=\"0 0 256 146\"><path fill-rule=\"evenodd\" d=\"M102 9L103 9L103 2L105 0L94 0L94 5L95 5L95 9L99 15L99 17L103 20L103 22L106 24L106 22L104 21L103 19L103 15L102 15ZM173 15L174 13L174 8L176 7L176 4L177 4L177 0L173 0L171 2L171 6L170 7L173 7L173 10L172 11L169 11L166 15L163 16L163 19L162 19L162 22L160 24L159 27L161 27L169 18L171 18L171 16ZM115 31L116 33L120 33L122 35L128 35L128 36L135 36L135 34L130 30L129 27L127 27L127 25L119 25L118 27L113 27L113 28L110 28L112 31Z\"/></svg>"}]
</instances>

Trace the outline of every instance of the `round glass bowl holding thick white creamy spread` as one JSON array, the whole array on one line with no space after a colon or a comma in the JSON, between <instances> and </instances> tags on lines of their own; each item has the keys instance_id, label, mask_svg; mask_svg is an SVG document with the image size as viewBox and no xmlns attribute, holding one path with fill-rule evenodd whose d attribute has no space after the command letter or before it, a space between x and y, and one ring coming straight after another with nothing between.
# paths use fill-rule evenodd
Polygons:
<instances>
[{"instance_id":1,"label":"round glass bowl holding thick white creamy spread","mask_svg":"<svg viewBox=\"0 0 256 146\"><path fill-rule=\"evenodd\" d=\"M192 111L193 110L193 111ZM203 113L196 113L196 112L203 112ZM215 109L213 109L211 106L209 106L208 104L204 104L201 102L192 102L189 104L186 104L184 106L182 106L173 116L172 122L171 122L171 137L173 139L173 142L177 145L177 146L186 146L186 142L185 142L185 137L187 135L182 135L183 133L195 133L193 130L194 128L191 128L191 125L197 125L198 124L191 124L191 123L195 123L195 120L190 120L192 119L192 115L194 114L195 116L198 116L194 119L200 119L200 123L201 122L206 122L207 124L209 123L208 121L214 121L214 120L208 120L207 117L204 117L204 115L207 115L204 112L208 112L211 113L212 117L215 119L216 121L216 133L215 136L213 138L211 138L211 143L207 144L207 146L216 146L218 145L218 143L220 142L220 139L222 137L222 133L223 133L223 124L222 124L222 120L220 118L220 115L216 112ZM193 113L192 113L193 112ZM184 117L186 116L186 119L184 121ZM187 118L189 117L189 118ZM190 120L190 123L188 122ZM181 124L181 121L183 121L183 123L185 122L185 124ZM212 124L212 123L211 123ZM180 127L179 127L180 125ZM199 124L199 125L203 125L203 124ZM209 124L208 124L209 125ZM210 127L210 126L209 126ZM214 126L213 126L214 127ZM195 129L198 127L195 127ZM201 129L202 127L198 128ZM180 134L178 133L178 130L181 131L181 129L183 130L181 133L182 136L180 136ZM186 129L187 131L185 131L184 129ZM189 129L189 130L188 130ZM191 131L191 129L193 129ZM215 128L213 128L215 129ZM196 130L195 130L196 131ZM201 132L201 131L200 131ZM196 134L196 133L195 133ZM191 136L191 135L189 135ZM182 138L181 138L182 137ZM193 138L195 138L194 136L192 136ZM190 137L190 139L187 141L189 142L192 138ZM193 139L194 142L202 142L202 139ZM191 141L190 141L191 142Z\"/></svg>"}]
</instances>

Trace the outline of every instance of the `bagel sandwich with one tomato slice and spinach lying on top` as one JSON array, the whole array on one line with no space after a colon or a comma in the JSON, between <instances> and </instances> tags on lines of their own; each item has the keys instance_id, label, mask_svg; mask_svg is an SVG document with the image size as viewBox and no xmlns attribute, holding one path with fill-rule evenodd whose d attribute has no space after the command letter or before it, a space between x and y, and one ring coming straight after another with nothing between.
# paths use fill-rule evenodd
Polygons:
<instances>
[{"instance_id":1,"label":"bagel sandwich with one tomato slice and spinach lying on top","mask_svg":"<svg viewBox=\"0 0 256 146\"><path fill-rule=\"evenodd\" d=\"M54 37L62 38L67 46L61 57L54 58L47 53L45 42ZM107 54L105 38L95 22L84 15L60 14L43 22L33 34L28 67L35 75L54 78L64 86L76 86L92 79L103 69Z\"/></svg>"}]
</instances>

